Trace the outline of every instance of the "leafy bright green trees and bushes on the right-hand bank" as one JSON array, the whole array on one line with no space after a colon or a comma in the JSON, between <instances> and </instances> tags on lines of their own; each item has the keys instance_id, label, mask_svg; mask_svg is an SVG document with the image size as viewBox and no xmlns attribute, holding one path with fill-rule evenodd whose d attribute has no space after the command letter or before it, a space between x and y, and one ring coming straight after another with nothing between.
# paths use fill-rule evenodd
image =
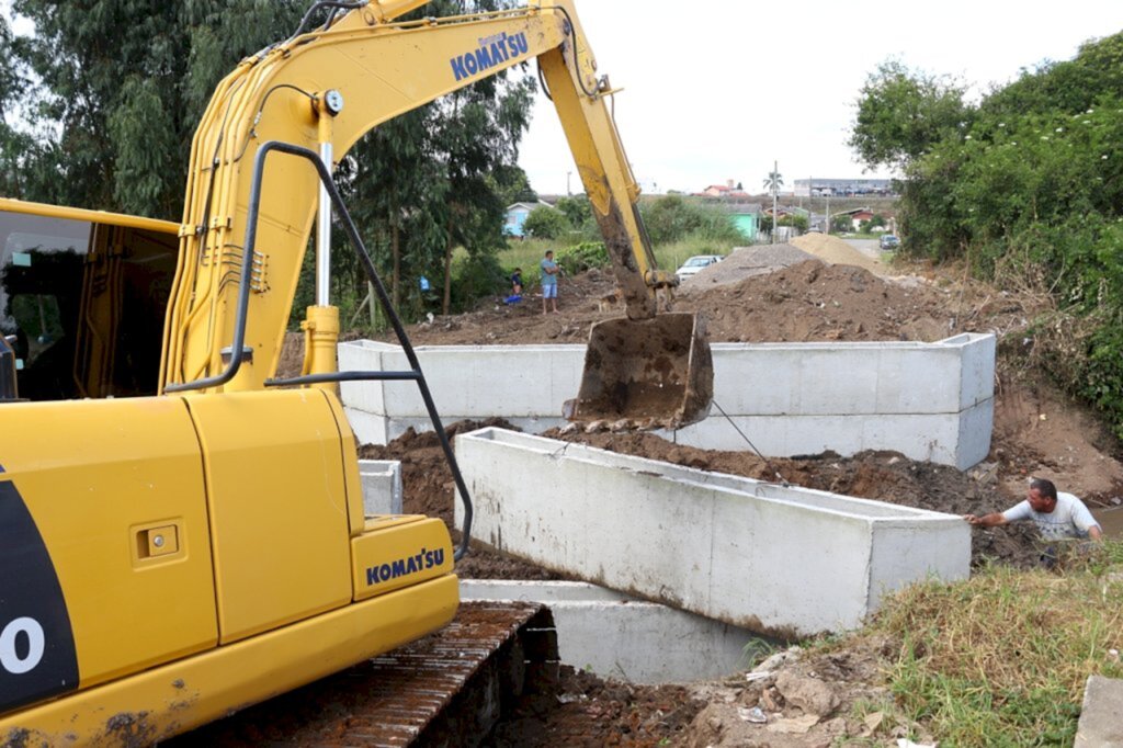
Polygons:
<instances>
[{"instance_id":1,"label":"leafy bright green trees and bushes on the right-hand bank","mask_svg":"<svg viewBox=\"0 0 1123 748\"><path fill-rule=\"evenodd\" d=\"M1024 71L976 107L957 86L883 67L850 142L868 165L901 167L906 252L1053 297L1067 321L1033 325L1032 355L1123 435L1121 92L1123 34Z\"/></svg>"}]
</instances>

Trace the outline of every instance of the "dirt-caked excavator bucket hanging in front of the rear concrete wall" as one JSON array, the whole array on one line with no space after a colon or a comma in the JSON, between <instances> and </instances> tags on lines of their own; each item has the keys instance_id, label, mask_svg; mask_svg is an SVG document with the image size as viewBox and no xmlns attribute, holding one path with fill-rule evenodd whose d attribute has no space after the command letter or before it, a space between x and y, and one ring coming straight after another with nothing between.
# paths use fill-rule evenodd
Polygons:
<instances>
[{"instance_id":1,"label":"dirt-caked excavator bucket hanging in front of the rear concrete wall","mask_svg":"<svg viewBox=\"0 0 1123 748\"><path fill-rule=\"evenodd\" d=\"M704 320L664 313L594 325L581 390L564 412L577 423L677 429L709 416L712 398Z\"/></svg>"}]
</instances>

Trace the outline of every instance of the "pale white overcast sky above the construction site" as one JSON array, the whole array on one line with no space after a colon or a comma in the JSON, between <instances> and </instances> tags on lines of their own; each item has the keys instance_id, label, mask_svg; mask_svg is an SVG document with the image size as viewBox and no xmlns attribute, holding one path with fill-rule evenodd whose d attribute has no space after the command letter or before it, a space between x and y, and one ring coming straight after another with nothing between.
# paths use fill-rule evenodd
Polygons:
<instances>
[{"instance_id":1,"label":"pale white overcast sky above the construction site","mask_svg":"<svg viewBox=\"0 0 1123 748\"><path fill-rule=\"evenodd\" d=\"M876 179L846 145L859 91L887 60L957 76L975 94L1123 30L1123 1L861 3L575 0L617 127L647 193L740 182ZM519 163L539 194L581 192L553 104L539 94Z\"/></svg>"}]
</instances>

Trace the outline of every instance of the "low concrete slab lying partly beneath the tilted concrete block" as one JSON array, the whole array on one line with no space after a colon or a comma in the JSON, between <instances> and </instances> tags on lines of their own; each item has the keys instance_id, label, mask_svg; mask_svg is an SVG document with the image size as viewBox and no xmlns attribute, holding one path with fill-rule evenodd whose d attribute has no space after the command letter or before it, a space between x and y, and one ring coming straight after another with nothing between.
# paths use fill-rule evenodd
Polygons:
<instances>
[{"instance_id":1,"label":"low concrete slab lying partly beneath the tilted concrete block","mask_svg":"<svg viewBox=\"0 0 1123 748\"><path fill-rule=\"evenodd\" d=\"M582 582L462 580L463 600L550 606L562 662L628 683L687 683L740 673L774 642L750 631Z\"/></svg>"}]
</instances>

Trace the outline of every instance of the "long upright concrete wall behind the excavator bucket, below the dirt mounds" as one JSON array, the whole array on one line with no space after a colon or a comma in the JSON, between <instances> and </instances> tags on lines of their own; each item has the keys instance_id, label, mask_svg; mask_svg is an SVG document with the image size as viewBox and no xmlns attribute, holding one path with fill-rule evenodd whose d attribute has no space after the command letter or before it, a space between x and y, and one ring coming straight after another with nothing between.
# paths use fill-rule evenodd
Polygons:
<instances>
[{"instance_id":1,"label":"long upright concrete wall behind the excavator bucket, below the dirt mounds","mask_svg":"<svg viewBox=\"0 0 1123 748\"><path fill-rule=\"evenodd\" d=\"M748 449L738 429L769 457L832 449L895 449L966 469L990 448L993 335L939 343L714 344L710 418L663 436L705 449ZM585 347L421 346L417 349L446 423L499 417L530 432L562 426L562 403L577 393ZM344 371L401 371L399 346L339 346ZM429 429L410 382L343 384L359 439L385 444L408 428ZM734 426L736 425L736 428Z\"/></svg>"}]
</instances>

